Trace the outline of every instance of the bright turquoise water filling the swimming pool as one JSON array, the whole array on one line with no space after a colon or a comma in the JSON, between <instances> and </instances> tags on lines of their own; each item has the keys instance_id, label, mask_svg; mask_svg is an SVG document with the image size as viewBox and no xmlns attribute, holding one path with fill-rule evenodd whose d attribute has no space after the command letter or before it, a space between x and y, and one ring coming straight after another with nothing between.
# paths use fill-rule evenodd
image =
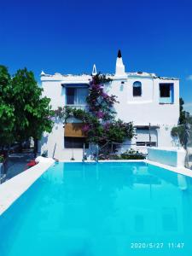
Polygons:
<instances>
[{"instance_id":1,"label":"bright turquoise water filling the swimming pool","mask_svg":"<svg viewBox=\"0 0 192 256\"><path fill-rule=\"evenodd\" d=\"M192 255L192 178L59 163L0 217L0 256Z\"/></svg>"}]
</instances>

